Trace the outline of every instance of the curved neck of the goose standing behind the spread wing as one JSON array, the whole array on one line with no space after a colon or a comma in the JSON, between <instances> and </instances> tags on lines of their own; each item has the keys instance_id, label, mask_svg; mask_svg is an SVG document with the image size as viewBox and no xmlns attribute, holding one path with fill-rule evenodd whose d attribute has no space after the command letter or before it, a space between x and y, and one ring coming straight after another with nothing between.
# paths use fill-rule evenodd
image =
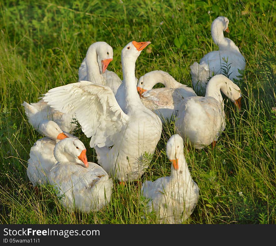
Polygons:
<instances>
[{"instance_id":1,"label":"curved neck of the goose standing behind the spread wing","mask_svg":"<svg viewBox=\"0 0 276 246\"><path fill-rule=\"evenodd\" d=\"M104 78L98 64L98 54L96 47L93 45L88 48L86 53L86 68L88 81L91 81L92 83L103 84Z\"/></svg>"}]
</instances>

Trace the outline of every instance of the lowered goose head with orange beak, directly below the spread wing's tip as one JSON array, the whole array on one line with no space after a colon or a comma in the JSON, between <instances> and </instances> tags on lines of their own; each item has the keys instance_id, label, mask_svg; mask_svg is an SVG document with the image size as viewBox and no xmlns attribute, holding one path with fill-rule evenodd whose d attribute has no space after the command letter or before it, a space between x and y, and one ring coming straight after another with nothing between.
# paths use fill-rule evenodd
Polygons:
<instances>
[{"instance_id":1,"label":"lowered goose head with orange beak, directly below the spread wing's tip","mask_svg":"<svg viewBox=\"0 0 276 246\"><path fill-rule=\"evenodd\" d=\"M38 130L52 140L61 140L68 136L60 129L58 124L52 120L42 120L39 124Z\"/></svg>"}]
</instances>

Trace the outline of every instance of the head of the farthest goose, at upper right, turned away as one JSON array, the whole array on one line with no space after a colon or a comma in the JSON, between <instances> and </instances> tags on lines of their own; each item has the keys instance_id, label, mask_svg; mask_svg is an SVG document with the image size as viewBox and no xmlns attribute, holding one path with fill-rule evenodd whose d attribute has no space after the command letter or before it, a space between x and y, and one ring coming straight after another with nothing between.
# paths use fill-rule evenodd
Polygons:
<instances>
[{"instance_id":1,"label":"head of the farthest goose, at upper right, turned away","mask_svg":"<svg viewBox=\"0 0 276 246\"><path fill-rule=\"evenodd\" d=\"M229 19L224 16L219 16L212 22L211 35L215 44L219 45L219 40L224 38L223 32L229 33Z\"/></svg>"}]
</instances>

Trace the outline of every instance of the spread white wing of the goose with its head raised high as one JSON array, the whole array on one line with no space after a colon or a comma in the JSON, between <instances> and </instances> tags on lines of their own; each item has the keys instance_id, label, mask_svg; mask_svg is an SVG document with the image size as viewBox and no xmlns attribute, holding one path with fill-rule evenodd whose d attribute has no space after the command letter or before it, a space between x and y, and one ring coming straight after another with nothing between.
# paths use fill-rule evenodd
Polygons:
<instances>
[{"instance_id":1,"label":"spread white wing of the goose with its head raised high","mask_svg":"<svg viewBox=\"0 0 276 246\"><path fill-rule=\"evenodd\" d=\"M80 81L50 89L43 97L51 107L75 114L90 147L112 146L129 121L108 86Z\"/></svg>"}]
</instances>

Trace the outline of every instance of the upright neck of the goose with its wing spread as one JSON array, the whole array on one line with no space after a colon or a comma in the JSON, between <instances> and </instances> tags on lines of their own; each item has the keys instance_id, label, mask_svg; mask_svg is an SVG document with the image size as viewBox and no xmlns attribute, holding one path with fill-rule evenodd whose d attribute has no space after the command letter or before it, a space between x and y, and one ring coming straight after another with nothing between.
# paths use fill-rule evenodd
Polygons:
<instances>
[{"instance_id":1,"label":"upright neck of the goose with its wing spread","mask_svg":"<svg viewBox=\"0 0 276 246\"><path fill-rule=\"evenodd\" d=\"M125 108L133 105L143 105L136 88L135 61L126 59L122 61L123 81L125 89Z\"/></svg>"}]
</instances>

